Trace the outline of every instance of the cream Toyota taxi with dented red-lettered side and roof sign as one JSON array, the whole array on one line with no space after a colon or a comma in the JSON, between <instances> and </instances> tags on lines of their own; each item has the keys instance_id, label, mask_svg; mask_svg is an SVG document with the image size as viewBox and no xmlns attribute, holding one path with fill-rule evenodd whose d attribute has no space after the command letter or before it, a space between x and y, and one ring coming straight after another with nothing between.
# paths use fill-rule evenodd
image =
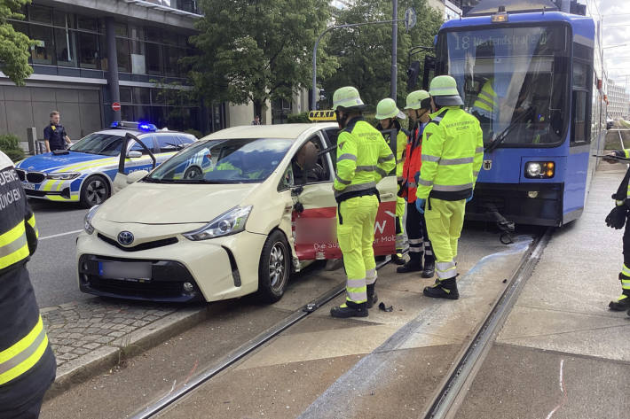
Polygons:
<instances>
[{"instance_id":1,"label":"cream Toyota taxi with dented red-lettered side and roof sign","mask_svg":"<svg viewBox=\"0 0 630 419\"><path fill-rule=\"evenodd\" d=\"M85 216L81 291L154 301L279 300L289 275L339 259L332 123L227 128L178 152ZM395 143L392 144L395 147ZM332 154L332 155L331 155ZM394 252L397 182L374 251Z\"/></svg>"}]
</instances>

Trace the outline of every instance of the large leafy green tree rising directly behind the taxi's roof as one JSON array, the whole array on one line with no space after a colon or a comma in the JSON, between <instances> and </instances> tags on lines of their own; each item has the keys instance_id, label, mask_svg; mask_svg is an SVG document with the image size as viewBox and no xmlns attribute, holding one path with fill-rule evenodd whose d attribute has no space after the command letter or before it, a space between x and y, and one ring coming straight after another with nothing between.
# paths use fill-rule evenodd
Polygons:
<instances>
[{"instance_id":1,"label":"large leafy green tree rising directly behind the taxi's roof","mask_svg":"<svg viewBox=\"0 0 630 419\"><path fill-rule=\"evenodd\" d=\"M311 80L311 51L330 18L327 0L201 0L204 17L191 38L201 55L188 58L191 77L207 104L291 100ZM319 76L335 72L335 58L318 58Z\"/></svg>"}]
</instances>

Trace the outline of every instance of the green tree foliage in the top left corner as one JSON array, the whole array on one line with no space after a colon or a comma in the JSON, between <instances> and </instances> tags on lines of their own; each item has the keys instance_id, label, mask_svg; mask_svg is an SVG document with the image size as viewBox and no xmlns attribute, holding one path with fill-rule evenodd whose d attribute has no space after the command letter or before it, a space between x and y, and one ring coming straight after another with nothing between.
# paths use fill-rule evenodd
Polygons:
<instances>
[{"instance_id":1,"label":"green tree foliage in the top left corner","mask_svg":"<svg viewBox=\"0 0 630 419\"><path fill-rule=\"evenodd\" d=\"M20 10L30 3L30 0L0 0L0 70L18 86L23 86L33 73L28 57L35 41L13 29L7 19L24 19Z\"/></svg>"}]
</instances>

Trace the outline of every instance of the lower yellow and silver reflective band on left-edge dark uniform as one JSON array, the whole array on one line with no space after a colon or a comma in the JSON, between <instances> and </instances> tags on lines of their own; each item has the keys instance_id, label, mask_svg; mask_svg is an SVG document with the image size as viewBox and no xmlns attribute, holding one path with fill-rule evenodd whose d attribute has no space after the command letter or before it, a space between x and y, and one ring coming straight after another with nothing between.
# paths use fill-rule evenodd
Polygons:
<instances>
[{"instance_id":1,"label":"lower yellow and silver reflective band on left-edge dark uniform","mask_svg":"<svg viewBox=\"0 0 630 419\"><path fill-rule=\"evenodd\" d=\"M33 368L42 358L47 346L48 338L43 330L40 316L27 336L0 353L0 385L8 383Z\"/></svg>"}]
</instances>

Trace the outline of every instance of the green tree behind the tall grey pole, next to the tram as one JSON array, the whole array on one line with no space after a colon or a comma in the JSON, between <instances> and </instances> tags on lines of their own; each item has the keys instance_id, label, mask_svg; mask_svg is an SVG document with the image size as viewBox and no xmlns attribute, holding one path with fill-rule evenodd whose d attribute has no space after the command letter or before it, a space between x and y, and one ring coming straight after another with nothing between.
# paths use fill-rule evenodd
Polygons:
<instances>
[{"instance_id":1,"label":"green tree behind the tall grey pole, next to the tram","mask_svg":"<svg viewBox=\"0 0 630 419\"><path fill-rule=\"evenodd\" d=\"M398 22L398 104L405 103L408 52L413 46L432 45L433 36L443 22L437 10L426 0L411 0L409 7L417 13L417 22L406 33L403 22ZM390 0L358 0L339 13L337 25L391 19ZM403 19L406 7L398 8L398 19ZM327 53L338 56L339 70L324 81L327 91L342 86L355 86L363 101L375 107L384 97L390 97L391 24L366 25L335 29L330 33Z\"/></svg>"}]
</instances>

